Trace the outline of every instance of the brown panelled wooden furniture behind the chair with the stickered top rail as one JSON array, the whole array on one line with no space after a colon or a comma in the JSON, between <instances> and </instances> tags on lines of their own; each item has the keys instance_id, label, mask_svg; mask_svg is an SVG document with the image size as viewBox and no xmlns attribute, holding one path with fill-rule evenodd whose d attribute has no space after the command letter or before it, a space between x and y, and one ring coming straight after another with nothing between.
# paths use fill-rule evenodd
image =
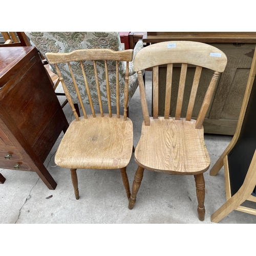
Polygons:
<instances>
[{"instance_id":1,"label":"brown panelled wooden furniture behind the chair with the stickered top rail","mask_svg":"<svg viewBox=\"0 0 256 256\"><path fill-rule=\"evenodd\" d=\"M214 97L204 120L204 132L212 134L234 135L243 102L253 52L256 43L256 32L146 32L143 42L155 44L162 41L183 40L204 42L222 50L228 59L226 70L221 74ZM180 68L174 69L174 79L178 80ZM195 68L189 67L184 92L184 104L188 104L191 84ZM159 91L165 91L166 67L159 69ZM202 71L200 84L207 84L210 75L205 69ZM198 94L193 112L197 118L206 87ZM173 95L177 95L178 88L173 88ZM159 101L159 115L164 115L164 94ZM171 116L175 115L175 102L170 105ZM185 115L182 110L182 116Z\"/></svg>"}]
</instances>

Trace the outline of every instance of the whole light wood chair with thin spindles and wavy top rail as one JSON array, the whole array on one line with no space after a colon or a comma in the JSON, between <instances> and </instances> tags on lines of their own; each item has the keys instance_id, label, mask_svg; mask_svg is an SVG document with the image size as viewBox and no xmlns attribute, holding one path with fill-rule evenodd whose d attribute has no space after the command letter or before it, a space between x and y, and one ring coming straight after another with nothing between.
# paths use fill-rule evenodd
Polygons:
<instances>
[{"instance_id":1,"label":"whole light wood chair with thin spindles and wavy top rail","mask_svg":"<svg viewBox=\"0 0 256 256\"><path fill-rule=\"evenodd\" d=\"M76 169L121 169L121 176L126 190L127 198L130 198L129 180L126 174L126 166L130 162L133 149L133 124L127 117L128 104L128 79L129 61L133 59L133 50L113 51L110 49L83 49L71 53L46 53L50 64L54 65L63 90L73 110L75 120L70 124L66 134L63 136L55 155L55 163L61 167L71 169L71 178L74 186L75 197L79 199L78 181ZM75 62L74 62L75 61ZM87 70L87 63L93 61L95 86L88 84L88 76L93 72ZM120 115L119 104L119 61L126 61L125 89L124 89L124 111ZM68 63L73 86L77 93L82 108L82 117L78 117L66 83L63 80L58 65ZM106 91L108 96L108 114L104 114L100 84L98 79L98 66L105 70ZM115 71L113 70L115 68ZM80 80L84 81L86 92L90 101L91 113L87 114L84 108L80 91L77 86L75 74L80 74ZM116 114L111 109L111 92L109 77L113 74L116 79ZM96 87L100 113L96 114L90 90ZM84 89L85 91L85 89Z\"/></svg>"}]
</instances>

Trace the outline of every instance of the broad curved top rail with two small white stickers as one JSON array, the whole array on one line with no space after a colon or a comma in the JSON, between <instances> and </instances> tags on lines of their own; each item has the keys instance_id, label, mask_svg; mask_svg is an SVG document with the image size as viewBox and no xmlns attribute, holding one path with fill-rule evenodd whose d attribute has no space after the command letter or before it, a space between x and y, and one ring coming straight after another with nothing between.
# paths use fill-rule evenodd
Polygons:
<instances>
[{"instance_id":1,"label":"broad curved top rail with two small white stickers","mask_svg":"<svg viewBox=\"0 0 256 256\"><path fill-rule=\"evenodd\" d=\"M175 47L168 48L168 45L174 44ZM211 56L211 53L219 57ZM134 60L134 70L139 71L167 63L190 63L223 72L226 62L227 57L223 51L202 42L166 41L147 46L139 51Z\"/></svg>"}]
</instances>

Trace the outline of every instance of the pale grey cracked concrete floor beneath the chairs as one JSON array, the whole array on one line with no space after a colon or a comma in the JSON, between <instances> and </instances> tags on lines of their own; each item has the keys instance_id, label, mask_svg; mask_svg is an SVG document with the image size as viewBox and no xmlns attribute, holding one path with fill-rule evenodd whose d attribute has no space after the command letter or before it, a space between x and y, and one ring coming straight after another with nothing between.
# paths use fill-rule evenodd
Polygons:
<instances>
[{"instance_id":1,"label":"pale grey cracked concrete floor beneath the chairs","mask_svg":"<svg viewBox=\"0 0 256 256\"><path fill-rule=\"evenodd\" d=\"M151 72L146 72L146 89L147 97L151 99ZM74 119L69 104L63 111L68 121ZM139 90L130 102L130 118L134 125L136 146L143 119ZM54 155L62 136L63 134L56 141L44 163L58 184L55 190L49 190L36 173L0 169L0 173L6 178L5 183L0 185L0 223L210 224L211 214L226 201L223 168L216 177L209 176L209 170L205 173L206 214L203 222L199 221L197 215L193 176L172 176L145 170L135 207L129 210L119 170L81 169L77 171L80 199L76 200L70 170L58 167L54 163ZM211 166L225 150L231 138L205 135ZM131 187L136 168L132 155L127 166ZM52 197L47 199L49 196ZM220 223L256 223L256 217L232 211Z\"/></svg>"}]
</instances>

